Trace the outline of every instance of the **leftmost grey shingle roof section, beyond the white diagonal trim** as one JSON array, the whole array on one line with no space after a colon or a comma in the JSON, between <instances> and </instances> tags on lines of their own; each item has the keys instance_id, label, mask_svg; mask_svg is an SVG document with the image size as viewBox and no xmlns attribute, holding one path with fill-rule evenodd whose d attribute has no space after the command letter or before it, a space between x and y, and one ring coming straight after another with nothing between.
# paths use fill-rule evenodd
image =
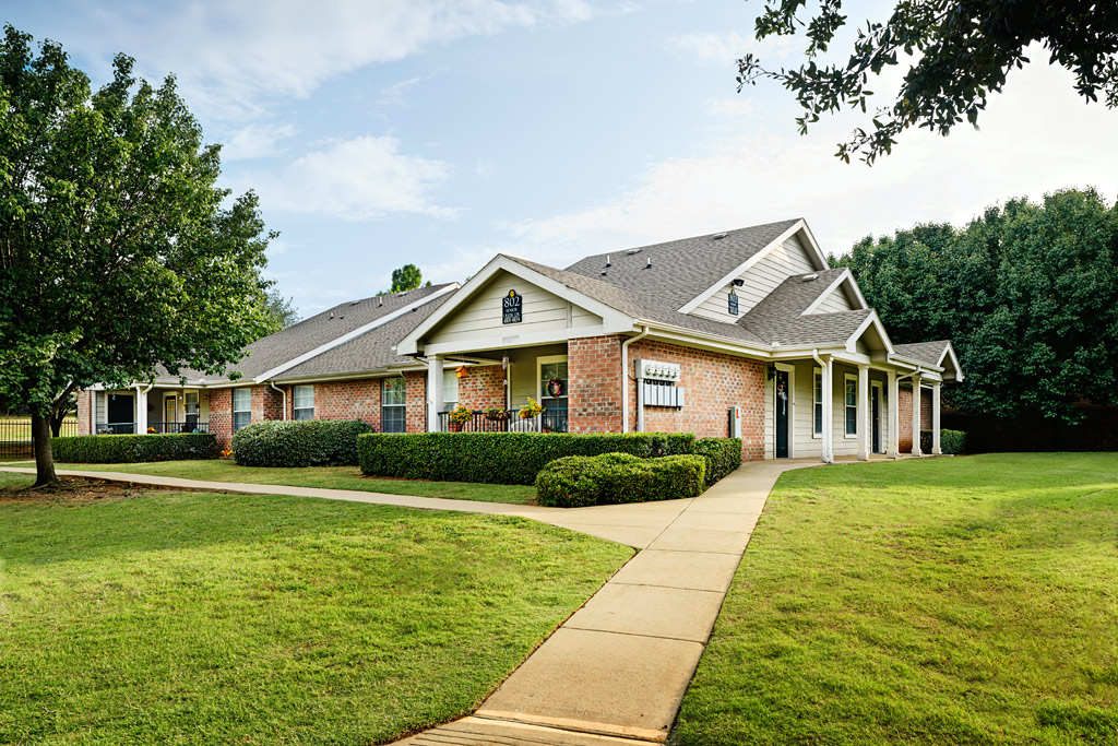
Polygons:
<instances>
[{"instance_id":1,"label":"leftmost grey shingle roof section, beyond the white diagonal trim","mask_svg":"<svg viewBox=\"0 0 1118 746\"><path fill-rule=\"evenodd\" d=\"M310 319L300 321L269 337L253 342L245 348L246 357L240 362L229 366L229 372L238 371L244 378L255 378L367 323L371 323L383 315L423 300L432 293L443 290L448 284L451 283L419 287L402 293L373 295L359 301L347 301L345 303L335 305L328 311L323 311L318 315L313 315ZM395 343L395 340L392 343ZM228 372L225 376L207 376L198 370L182 370L180 375L186 376L190 380L205 378L208 384L221 384L233 380ZM178 384L178 376L170 375L163 375L157 379L157 383Z\"/></svg>"}]
</instances>

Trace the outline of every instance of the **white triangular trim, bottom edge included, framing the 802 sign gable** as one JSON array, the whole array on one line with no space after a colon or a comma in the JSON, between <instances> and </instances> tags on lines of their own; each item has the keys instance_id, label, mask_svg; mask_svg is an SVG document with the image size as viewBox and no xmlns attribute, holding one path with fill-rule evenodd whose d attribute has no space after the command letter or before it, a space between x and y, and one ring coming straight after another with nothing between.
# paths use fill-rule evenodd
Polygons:
<instances>
[{"instance_id":1,"label":"white triangular trim, bottom edge included, framing the 802 sign gable","mask_svg":"<svg viewBox=\"0 0 1118 746\"><path fill-rule=\"evenodd\" d=\"M569 301L580 308L590 311L595 315L601 317L600 327L588 327L586 329L577 329L577 337L599 337L604 334L612 334L622 331L631 331L633 329L634 319L633 317L622 313L612 305L607 305L600 301L596 301L589 295L585 295L574 287L568 287L562 283L551 280L544 274L532 270L531 267L524 266L520 262L515 261L510 256L504 254L498 254L495 257L490 259L490 263L482 267L481 272L471 277L465 285L458 289L451 300L442 305L437 311L432 313L429 317L423 320L423 322L411 330L407 337L401 339L396 344L396 351L398 355L416 355L419 352L419 341L424 336L432 331L439 323L449 318L456 309L458 309L463 303L472 300L484 285L501 271L508 272L509 274L515 275L523 280L524 282L530 282L537 287L544 290L552 295L558 295L559 298ZM593 277L587 277L587 280L593 280ZM572 329L556 330L563 334L562 339L568 339L570 332L576 331ZM548 332L552 337L555 332ZM527 334L531 337L531 334ZM493 339L493 338L490 338ZM561 341L561 340L556 340ZM434 355L437 352L451 352L459 349L472 350L472 349L496 349L492 348L489 340L462 340L461 342L451 343L444 342L442 344L424 346L424 355ZM534 343L524 341L514 341L504 347L518 347L523 343ZM438 348L438 349L436 349ZM447 349L453 348L453 349Z\"/></svg>"}]
</instances>

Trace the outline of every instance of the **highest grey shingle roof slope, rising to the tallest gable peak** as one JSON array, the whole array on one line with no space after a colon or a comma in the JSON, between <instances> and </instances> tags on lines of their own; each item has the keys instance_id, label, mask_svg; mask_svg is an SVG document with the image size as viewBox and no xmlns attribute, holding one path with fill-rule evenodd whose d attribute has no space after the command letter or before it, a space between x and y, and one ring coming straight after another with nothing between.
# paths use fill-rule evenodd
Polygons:
<instances>
[{"instance_id":1,"label":"highest grey shingle roof slope, rising to the tallest gable peak","mask_svg":"<svg viewBox=\"0 0 1118 746\"><path fill-rule=\"evenodd\" d=\"M694 236L608 254L595 254L567 267L675 311L757 254L799 218ZM716 238L716 236L722 236ZM606 267L606 257L612 266ZM645 268L648 258L652 267ZM603 275L603 272L607 272Z\"/></svg>"}]
</instances>

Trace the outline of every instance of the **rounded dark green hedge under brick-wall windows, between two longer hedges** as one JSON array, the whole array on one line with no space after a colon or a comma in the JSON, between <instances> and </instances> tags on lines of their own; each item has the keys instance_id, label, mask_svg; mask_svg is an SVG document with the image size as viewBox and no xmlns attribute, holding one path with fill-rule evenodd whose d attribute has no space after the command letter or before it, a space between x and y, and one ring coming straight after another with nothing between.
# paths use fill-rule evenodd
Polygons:
<instances>
[{"instance_id":1,"label":"rounded dark green hedge under brick-wall windows, between two longer hedges","mask_svg":"<svg viewBox=\"0 0 1118 746\"><path fill-rule=\"evenodd\" d=\"M233 457L241 466L356 466L358 436L371 432L360 419L254 423L233 434Z\"/></svg>"}]
</instances>

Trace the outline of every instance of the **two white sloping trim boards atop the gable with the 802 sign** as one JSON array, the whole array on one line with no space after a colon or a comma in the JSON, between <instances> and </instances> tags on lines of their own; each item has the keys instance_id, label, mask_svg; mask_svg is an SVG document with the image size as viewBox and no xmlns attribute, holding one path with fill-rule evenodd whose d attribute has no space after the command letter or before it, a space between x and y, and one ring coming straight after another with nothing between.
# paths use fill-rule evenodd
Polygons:
<instances>
[{"instance_id":1,"label":"two white sloping trim boards atop the gable with the 802 sign","mask_svg":"<svg viewBox=\"0 0 1118 746\"><path fill-rule=\"evenodd\" d=\"M481 290L484 287L493 275L501 271L508 272L509 274L515 275L525 282L530 282L541 290L546 290L553 295L558 295L563 300L570 301L575 305L579 305L587 311L590 311L595 315L601 317L601 331L603 334L609 334L618 331L629 331L633 329L635 320L633 317L622 313L612 305L607 305L600 301L596 301L588 295L584 295L572 287L568 287L561 282L556 282L547 275L540 274L531 267L524 266L515 259L504 256L503 254L498 254L493 257L489 264L482 267L482 271L471 277L465 285L463 285L457 293L455 293L451 300L443 304L440 309L435 311L426 319L423 323L411 330L411 332L401 339L396 344L397 355L418 355L419 353L419 340L424 338L429 331L435 329L439 323L448 319L454 312L462 306L463 303L472 300ZM593 336L593 334L584 334ZM489 343L489 342L486 342ZM519 341L518 344L523 343Z\"/></svg>"}]
</instances>

